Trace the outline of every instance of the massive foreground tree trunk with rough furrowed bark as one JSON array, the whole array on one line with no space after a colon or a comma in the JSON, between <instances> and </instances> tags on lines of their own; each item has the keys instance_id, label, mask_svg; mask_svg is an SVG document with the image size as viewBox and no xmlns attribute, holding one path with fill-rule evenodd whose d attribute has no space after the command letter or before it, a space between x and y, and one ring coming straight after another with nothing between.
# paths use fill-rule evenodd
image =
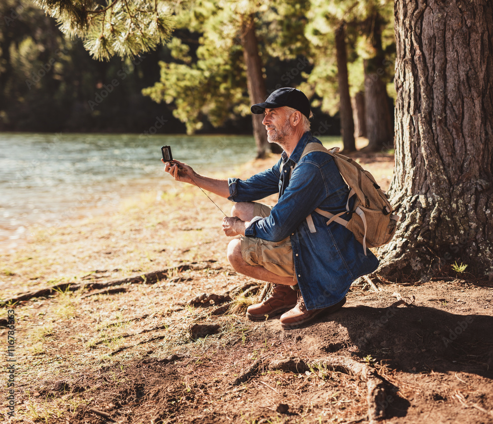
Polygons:
<instances>
[{"instance_id":1,"label":"massive foreground tree trunk with rough furrowed bark","mask_svg":"<svg viewBox=\"0 0 493 424\"><path fill-rule=\"evenodd\" d=\"M396 0L391 279L493 277L493 2ZM449 274L450 275L450 274Z\"/></svg>"}]
</instances>

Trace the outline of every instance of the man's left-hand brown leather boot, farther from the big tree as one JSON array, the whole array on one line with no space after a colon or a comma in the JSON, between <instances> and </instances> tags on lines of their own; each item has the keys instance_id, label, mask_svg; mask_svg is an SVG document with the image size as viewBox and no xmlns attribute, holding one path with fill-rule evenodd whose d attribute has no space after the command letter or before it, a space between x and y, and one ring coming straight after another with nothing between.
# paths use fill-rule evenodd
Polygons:
<instances>
[{"instance_id":1,"label":"man's left-hand brown leather boot, farther from the big tree","mask_svg":"<svg viewBox=\"0 0 493 424\"><path fill-rule=\"evenodd\" d=\"M250 321L262 321L268 317L275 317L288 311L298 298L299 290L291 289L291 286L274 284L271 295L261 303L250 305L246 309L246 318Z\"/></svg>"}]
</instances>

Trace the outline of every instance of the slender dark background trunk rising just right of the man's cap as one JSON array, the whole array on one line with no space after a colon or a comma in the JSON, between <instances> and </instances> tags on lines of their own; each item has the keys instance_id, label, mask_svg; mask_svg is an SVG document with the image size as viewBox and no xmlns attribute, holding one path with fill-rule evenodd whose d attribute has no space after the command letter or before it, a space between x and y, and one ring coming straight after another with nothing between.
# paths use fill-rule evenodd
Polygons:
<instances>
[{"instance_id":1,"label":"slender dark background trunk rising just right of the man's cap","mask_svg":"<svg viewBox=\"0 0 493 424\"><path fill-rule=\"evenodd\" d=\"M354 152L354 121L352 120L351 96L349 95L348 55L346 53L345 23L342 22L336 30L337 78L339 81L339 98L341 114L341 132L344 152Z\"/></svg>"}]
</instances>

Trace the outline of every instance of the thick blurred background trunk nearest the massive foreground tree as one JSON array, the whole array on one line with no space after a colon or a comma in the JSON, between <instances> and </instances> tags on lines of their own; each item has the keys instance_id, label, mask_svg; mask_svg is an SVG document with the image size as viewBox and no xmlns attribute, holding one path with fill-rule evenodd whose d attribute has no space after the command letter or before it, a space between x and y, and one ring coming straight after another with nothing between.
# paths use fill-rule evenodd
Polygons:
<instances>
[{"instance_id":1,"label":"thick blurred background trunk nearest the massive foreground tree","mask_svg":"<svg viewBox=\"0 0 493 424\"><path fill-rule=\"evenodd\" d=\"M368 20L369 38L375 51L373 58L364 61L365 111L368 146L365 150L377 152L393 147L393 127L388 106L385 76L387 61L382 47L384 22L378 12Z\"/></svg>"}]
</instances>

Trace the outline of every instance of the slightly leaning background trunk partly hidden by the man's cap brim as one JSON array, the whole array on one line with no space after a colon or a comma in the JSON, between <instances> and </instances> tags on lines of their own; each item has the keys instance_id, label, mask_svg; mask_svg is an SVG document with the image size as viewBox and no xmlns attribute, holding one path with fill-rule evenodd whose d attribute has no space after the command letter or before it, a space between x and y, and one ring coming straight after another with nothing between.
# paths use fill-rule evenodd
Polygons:
<instances>
[{"instance_id":1,"label":"slightly leaning background trunk partly hidden by the man's cap brim","mask_svg":"<svg viewBox=\"0 0 493 424\"><path fill-rule=\"evenodd\" d=\"M246 87L250 97L250 103L261 103L267 98L262 61L258 54L258 42L255 35L253 15L246 16L242 28L243 58L246 65ZM265 157L267 150L267 131L262 125L263 115L252 114L253 136L257 145L257 158Z\"/></svg>"}]
</instances>

